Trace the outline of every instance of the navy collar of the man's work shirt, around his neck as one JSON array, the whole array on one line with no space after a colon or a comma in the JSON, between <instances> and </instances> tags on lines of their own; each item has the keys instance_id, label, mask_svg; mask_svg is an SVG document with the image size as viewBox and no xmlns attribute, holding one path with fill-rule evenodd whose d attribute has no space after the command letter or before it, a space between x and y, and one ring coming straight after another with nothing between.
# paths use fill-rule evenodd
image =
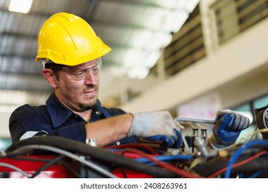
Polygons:
<instances>
[{"instance_id":1,"label":"navy collar of the man's work shirt, around his neck","mask_svg":"<svg viewBox=\"0 0 268 192\"><path fill-rule=\"evenodd\" d=\"M69 108L64 106L56 97L54 93L51 93L46 101L47 111L52 119L52 124L54 128L62 125L67 119L74 114ZM97 101L97 105L92 109L92 117L94 121L99 119L100 115L104 117L109 117L107 110L102 108L100 101ZM82 119L82 118L81 118Z\"/></svg>"}]
</instances>

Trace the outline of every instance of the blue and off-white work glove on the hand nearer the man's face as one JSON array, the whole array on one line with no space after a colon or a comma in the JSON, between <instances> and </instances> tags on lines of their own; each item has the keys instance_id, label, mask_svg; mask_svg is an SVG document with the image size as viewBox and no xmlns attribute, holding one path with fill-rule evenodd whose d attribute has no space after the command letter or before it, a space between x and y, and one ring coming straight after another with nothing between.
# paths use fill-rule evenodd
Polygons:
<instances>
[{"instance_id":1,"label":"blue and off-white work glove on the hand nearer the man's face","mask_svg":"<svg viewBox=\"0 0 268 192\"><path fill-rule=\"evenodd\" d=\"M131 113L131 115L133 122L128 136L163 141L167 147L180 147L181 130L167 110Z\"/></svg>"}]
</instances>

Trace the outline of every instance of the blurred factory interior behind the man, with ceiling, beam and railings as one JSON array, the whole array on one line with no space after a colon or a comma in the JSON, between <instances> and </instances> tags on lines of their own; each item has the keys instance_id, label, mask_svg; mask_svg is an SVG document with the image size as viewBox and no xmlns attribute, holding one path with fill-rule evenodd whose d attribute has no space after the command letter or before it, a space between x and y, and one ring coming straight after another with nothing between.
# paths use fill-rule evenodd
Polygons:
<instances>
[{"instance_id":1,"label":"blurred factory interior behind the man, with ceiling, beam and railings","mask_svg":"<svg viewBox=\"0 0 268 192\"><path fill-rule=\"evenodd\" d=\"M81 16L112 48L102 105L194 119L230 108L256 128L254 110L268 104L267 0L0 0L0 148L11 143L12 111L52 91L35 57L39 29L57 12Z\"/></svg>"}]
</instances>

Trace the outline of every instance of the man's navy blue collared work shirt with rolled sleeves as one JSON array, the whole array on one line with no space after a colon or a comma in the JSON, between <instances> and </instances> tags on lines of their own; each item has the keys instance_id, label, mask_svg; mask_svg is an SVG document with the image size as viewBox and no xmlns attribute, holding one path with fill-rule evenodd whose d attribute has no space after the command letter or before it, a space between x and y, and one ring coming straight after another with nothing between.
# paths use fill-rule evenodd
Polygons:
<instances>
[{"instance_id":1,"label":"man's navy blue collared work shirt with rolled sleeves","mask_svg":"<svg viewBox=\"0 0 268 192\"><path fill-rule=\"evenodd\" d=\"M90 122L122 114L126 112L120 108L104 108L98 100L92 110ZM10 116L9 129L12 143L41 135L62 136L85 143L85 123L87 121L60 103L56 95L52 93L45 105L25 104L16 108ZM126 137L111 145L126 143L137 143L137 137Z\"/></svg>"}]
</instances>

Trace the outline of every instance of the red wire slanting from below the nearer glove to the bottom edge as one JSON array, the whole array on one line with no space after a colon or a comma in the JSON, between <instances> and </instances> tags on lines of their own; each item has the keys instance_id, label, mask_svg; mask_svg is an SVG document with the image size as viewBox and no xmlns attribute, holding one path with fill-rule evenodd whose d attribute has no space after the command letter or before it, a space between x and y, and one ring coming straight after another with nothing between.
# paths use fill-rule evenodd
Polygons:
<instances>
[{"instance_id":1,"label":"red wire slanting from below the nearer glove to the bottom edge","mask_svg":"<svg viewBox=\"0 0 268 192\"><path fill-rule=\"evenodd\" d=\"M167 163L163 163L161 160L157 160L155 158L153 158L153 156L149 155L149 154L145 154L144 152L141 152L137 149L124 149L122 154L126 153L126 152L131 152L131 153L135 153L135 154L139 154L141 156L144 156L145 158L148 158L149 160L151 160L152 162L156 163L157 165L159 165L160 167L164 167L174 173L179 174L180 176L186 177L186 178L203 178L202 176L198 176L194 173L190 173L188 171L185 171L183 169L178 169L177 167L167 164Z\"/></svg>"}]
</instances>

